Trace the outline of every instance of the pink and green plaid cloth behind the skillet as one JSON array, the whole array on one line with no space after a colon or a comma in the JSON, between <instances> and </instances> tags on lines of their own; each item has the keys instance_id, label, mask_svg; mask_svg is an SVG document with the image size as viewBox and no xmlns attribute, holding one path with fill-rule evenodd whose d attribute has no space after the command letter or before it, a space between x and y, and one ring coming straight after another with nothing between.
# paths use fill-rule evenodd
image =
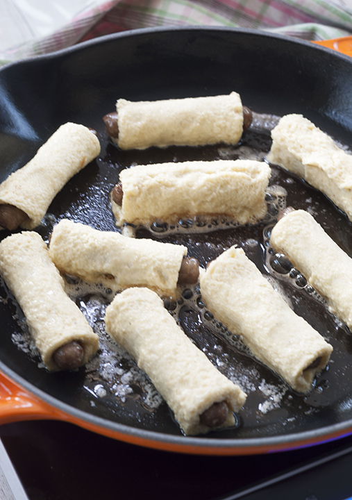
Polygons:
<instances>
[{"instance_id":1,"label":"pink and green plaid cloth behind the skillet","mask_svg":"<svg viewBox=\"0 0 352 500\"><path fill-rule=\"evenodd\" d=\"M149 26L233 26L327 40L352 34L352 0L95 0L60 31L0 53L0 65Z\"/></svg>"}]
</instances>

